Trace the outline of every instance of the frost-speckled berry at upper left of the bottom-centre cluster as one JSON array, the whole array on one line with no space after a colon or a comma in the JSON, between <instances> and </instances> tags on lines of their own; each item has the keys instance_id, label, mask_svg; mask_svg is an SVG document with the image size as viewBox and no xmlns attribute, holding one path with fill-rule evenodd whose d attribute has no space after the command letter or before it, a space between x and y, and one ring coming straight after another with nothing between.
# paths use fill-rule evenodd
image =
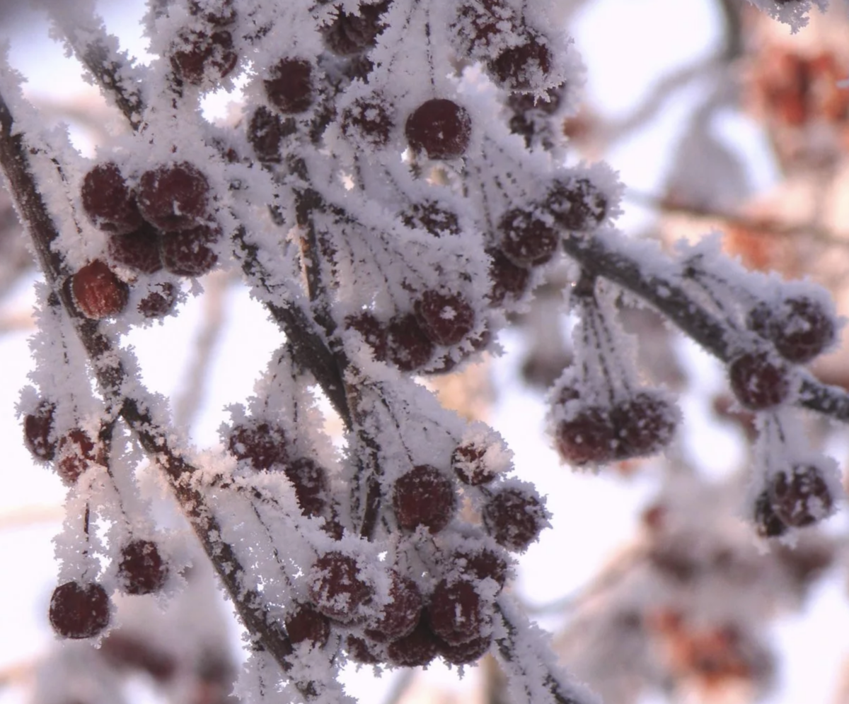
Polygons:
<instances>
[{"instance_id":1,"label":"frost-speckled berry at upper left of the bottom-centre cluster","mask_svg":"<svg viewBox=\"0 0 849 704\"><path fill-rule=\"evenodd\" d=\"M318 558L307 576L310 599L324 616L342 623L357 619L357 609L374 589L361 576L357 561L341 552Z\"/></svg>"}]
</instances>

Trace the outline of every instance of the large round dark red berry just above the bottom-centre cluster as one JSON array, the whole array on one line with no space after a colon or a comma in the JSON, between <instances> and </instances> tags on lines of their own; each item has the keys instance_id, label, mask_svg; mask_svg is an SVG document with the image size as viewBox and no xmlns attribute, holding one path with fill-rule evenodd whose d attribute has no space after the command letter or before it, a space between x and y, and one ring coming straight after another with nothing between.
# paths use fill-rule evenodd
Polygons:
<instances>
[{"instance_id":1,"label":"large round dark red berry just above the bottom-centre cluster","mask_svg":"<svg viewBox=\"0 0 849 704\"><path fill-rule=\"evenodd\" d=\"M424 526L431 533L448 525L456 500L451 479L430 465L413 467L396 481L392 492L398 525L410 530Z\"/></svg>"}]
</instances>

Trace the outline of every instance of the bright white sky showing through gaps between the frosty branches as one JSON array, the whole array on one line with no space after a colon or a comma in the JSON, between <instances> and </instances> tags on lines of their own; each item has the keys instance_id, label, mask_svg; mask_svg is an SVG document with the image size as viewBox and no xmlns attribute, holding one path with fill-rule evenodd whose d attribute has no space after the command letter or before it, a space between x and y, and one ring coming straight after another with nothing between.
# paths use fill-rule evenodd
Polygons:
<instances>
[{"instance_id":1,"label":"bright white sky showing through gaps between the frosty branches","mask_svg":"<svg viewBox=\"0 0 849 704\"><path fill-rule=\"evenodd\" d=\"M740 0L743 2L743 0ZM137 20L142 10L137 0L119 0L104 8L110 31L122 39L134 37L124 47L141 55L143 40ZM689 63L715 50L720 39L720 18L710 0L592 0L576 23L577 44L588 64L588 92L599 109L621 114L638 103L651 81L669 67ZM0 28L2 36L2 28ZM63 98L81 89L79 70L66 61L62 48L46 38L43 22L16 28L11 43L11 62L30 79L27 91L35 98ZM615 47L611 49L611 47ZM82 84L83 89L91 90ZM699 98L698 85L677 93L649 126L622 142L609 156L621 172L622 181L640 191L655 192L667 167L667 157L686 116ZM222 114L229 98L216 101ZM736 148L756 157L750 174L756 187L766 187L773 176L763 139L745 120L728 120L723 127ZM82 137L82 136L81 136ZM627 206L627 203L626 203ZM628 231L644 223L644 214L626 207L621 226ZM20 308L31 299L22 290L12 306ZM145 381L152 390L179 395L181 376L191 360L194 335L200 321L198 301L190 301L177 320L137 336ZM197 419L195 439L201 445L217 442L216 428L227 417L222 407L244 400L257 374L279 344L275 327L266 320L260 305L235 291L225 306L225 329L217 349L211 382ZM261 334L266 331L267 334ZM0 337L3 383L0 383L0 433L5 462L0 492L0 516L20 506L60 506L65 491L51 472L33 467L20 442L20 425L14 419L14 403L30 369L24 333ZM251 344L241 344L250 339ZM520 354L514 339L504 338L508 355L494 366L500 389L492 422L516 453L523 478L537 483L549 494L554 511L554 531L543 534L538 545L522 559L518 588L531 603L545 603L580 588L622 545L636 526L637 511L653 494L650 478L621 479L571 474L559 467L542 434L543 406L538 394L517 383ZM162 350L167 350L163 355ZM704 355L688 355L704 390L717 388L722 375ZM694 455L707 460L706 470L727 472L739 462L739 448L724 430L711 427L704 409L696 404L686 424L683 442ZM701 414L701 417L700 417ZM521 419L521 422L519 422ZM717 448L719 449L717 451ZM710 449L710 450L708 450ZM727 452L723 452L727 449ZM843 459L843 458L841 458ZM47 624L47 603L55 580L53 545L59 520L30 528L4 529L0 523L0 670L36 658L52 640ZM570 536L576 536L571 540ZM578 538L579 536L579 538ZM553 575L552 565L560 573ZM784 619L774 629L776 650L784 656L779 665L779 686L769 704L829 701L835 690L842 658L849 654L849 602L841 578L832 579L808 602L807 612ZM430 671L442 682L456 675L441 666ZM380 683L380 689L390 679ZM351 678L351 694L363 701L379 701L370 675ZM24 690L0 689L0 704L20 704Z\"/></svg>"}]
</instances>

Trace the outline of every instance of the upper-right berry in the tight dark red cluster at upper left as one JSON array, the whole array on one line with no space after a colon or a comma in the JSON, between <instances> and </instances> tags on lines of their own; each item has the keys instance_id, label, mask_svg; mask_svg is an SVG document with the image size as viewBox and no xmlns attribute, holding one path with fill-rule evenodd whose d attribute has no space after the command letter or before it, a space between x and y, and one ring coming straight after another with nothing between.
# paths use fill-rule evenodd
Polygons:
<instances>
[{"instance_id":1,"label":"upper-right berry in the tight dark red cluster at upper left","mask_svg":"<svg viewBox=\"0 0 849 704\"><path fill-rule=\"evenodd\" d=\"M206 216L210 186L188 161L160 165L138 180L138 208L144 219L165 232L197 226Z\"/></svg>"}]
</instances>

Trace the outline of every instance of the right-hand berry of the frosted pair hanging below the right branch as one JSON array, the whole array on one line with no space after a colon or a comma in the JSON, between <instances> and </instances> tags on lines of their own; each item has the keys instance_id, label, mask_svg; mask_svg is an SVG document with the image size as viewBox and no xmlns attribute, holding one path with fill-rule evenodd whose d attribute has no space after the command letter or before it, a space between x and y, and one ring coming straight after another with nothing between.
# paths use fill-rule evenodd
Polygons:
<instances>
[{"instance_id":1,"label":"right-hand berry of the frosted pair hanging below the right branch","mask_svg":"<svg viewBox=\"0 0 849 704\"><path fill-rule=\"evenodd\" d=\"M662 395L643 391L615 405L610 422L616 432L616 456L624 460L666 447L678 427L678 413Z\"/></svg>"}]
</instances>

